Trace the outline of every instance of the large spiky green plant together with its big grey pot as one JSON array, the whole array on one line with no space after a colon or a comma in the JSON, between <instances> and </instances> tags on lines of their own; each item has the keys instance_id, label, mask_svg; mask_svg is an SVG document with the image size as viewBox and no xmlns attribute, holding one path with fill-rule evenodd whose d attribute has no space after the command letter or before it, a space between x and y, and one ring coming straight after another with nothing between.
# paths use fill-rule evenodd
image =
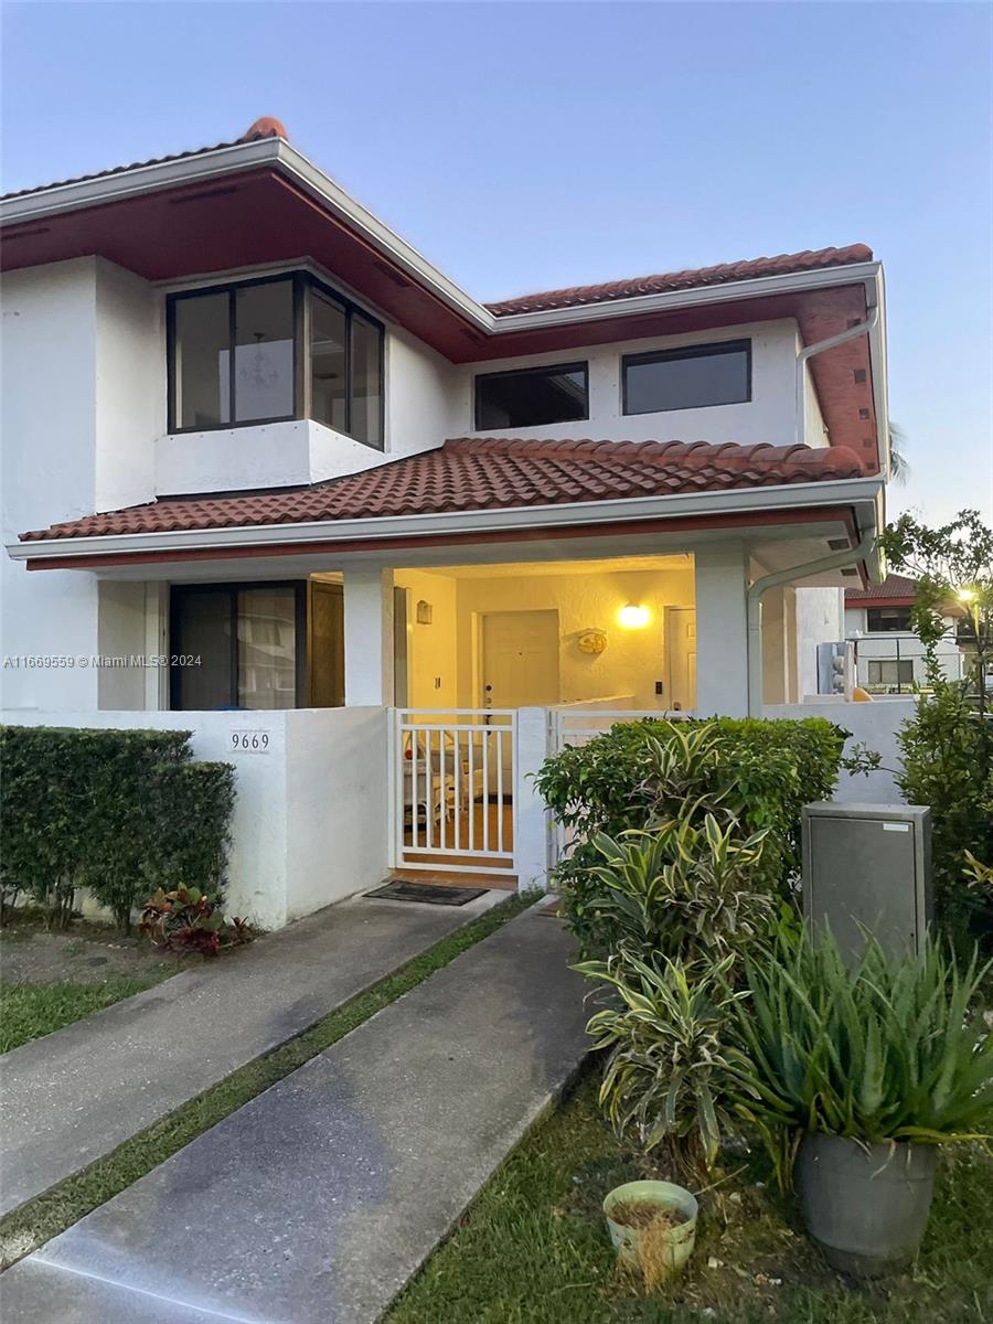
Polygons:
<instances>
[{"instance_id":1,"label":"large spiky green plant together with its big grey pot","mask_svg":"<svg viewBox=\"0 0 993 1324\"><path fill-rule=\"evenodd\" d=\"M875 1278L916 1254L936 1149L985 1140L993 1035L974 1008L989 967L959 972L939 948L887 959L867 941L846 968L830 935L747 963L736 1004L747 1067L737 1111L829 1263Z\"/></svg>"}]
</instances>

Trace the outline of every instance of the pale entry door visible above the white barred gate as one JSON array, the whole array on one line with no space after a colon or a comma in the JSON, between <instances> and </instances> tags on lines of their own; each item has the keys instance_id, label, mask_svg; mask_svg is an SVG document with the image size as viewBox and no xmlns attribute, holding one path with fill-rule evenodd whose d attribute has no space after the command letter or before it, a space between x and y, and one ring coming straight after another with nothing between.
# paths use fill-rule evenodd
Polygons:
<instances>
[{"instance_id":1,"label":"pale entry door visible above the white barred gate","mask_svg":"<svg viewBox=\"0 0 993 1324\"><path fill-rule=\"evenodd\" d=\"M559 702L559 613L487 612L482 622L482 706Z\"/></svg>"}]
</instances>

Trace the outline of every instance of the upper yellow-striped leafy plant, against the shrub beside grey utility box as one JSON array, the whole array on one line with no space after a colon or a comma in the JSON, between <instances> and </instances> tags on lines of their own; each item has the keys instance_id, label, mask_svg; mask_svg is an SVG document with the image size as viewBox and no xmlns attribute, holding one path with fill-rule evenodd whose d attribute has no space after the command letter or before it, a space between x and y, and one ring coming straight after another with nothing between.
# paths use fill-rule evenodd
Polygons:
<instances>
[{"instance_id":1,"label":"upper yellow-striped leafy plant, against the shrub beside grey utility box","mask_svg":"<svg viewBox=\"0 0 993 1324\"><path fill-rule=\"evenodd\" d=\"M740 837L731 818L707 814L703 828L671 820L653 831L592 838L601 886L591 908L606 920L618 945L687 963L740 955L769 931L776 898L755 890L767 830Z\"/></svg>"}]
</instances>

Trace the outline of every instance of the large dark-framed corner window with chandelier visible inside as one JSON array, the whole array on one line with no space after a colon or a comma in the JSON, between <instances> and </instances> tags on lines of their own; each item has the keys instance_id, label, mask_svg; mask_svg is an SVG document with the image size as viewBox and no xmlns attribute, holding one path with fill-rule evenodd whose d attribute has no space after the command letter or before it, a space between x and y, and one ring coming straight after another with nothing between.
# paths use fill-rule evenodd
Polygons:
<instances>
[{"instance_id":1,"label":"large dark-framed corner window with chandelier visible inside","mask_svg":"<svg viewBox=\"0 0 993 1324\"><path fill-rule=\"evenodd\" d=\"M308 275L167 301L169 432L315 418L383 448L383 327Z\"/></svg>"}]
</instances>

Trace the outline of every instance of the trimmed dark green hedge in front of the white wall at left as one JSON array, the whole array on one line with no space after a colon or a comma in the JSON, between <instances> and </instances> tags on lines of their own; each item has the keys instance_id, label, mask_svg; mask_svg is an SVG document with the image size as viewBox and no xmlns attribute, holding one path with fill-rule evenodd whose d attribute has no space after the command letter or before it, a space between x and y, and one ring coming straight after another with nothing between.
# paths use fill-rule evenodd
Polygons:
<instances>
[{"instance_id":1,"label":"trimmed dark green hedge in front of the white wall at left","mask_svg":"<svg viewBox=\"0 0 993 1324\"><path fill-rule=\"evenodd\" d=\"M159 886L224 884L234 769L188 731L0 728L0 883L65 925L86 887L127 931Z\"/></svg>"}]
</instances>

